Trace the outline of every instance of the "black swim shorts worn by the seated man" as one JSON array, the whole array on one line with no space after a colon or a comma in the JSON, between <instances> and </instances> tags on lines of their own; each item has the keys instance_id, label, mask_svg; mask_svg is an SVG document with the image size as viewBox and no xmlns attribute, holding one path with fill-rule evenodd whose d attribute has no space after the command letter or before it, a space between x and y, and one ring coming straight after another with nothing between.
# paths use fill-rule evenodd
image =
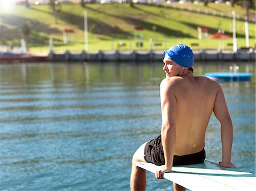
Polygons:
<instances>
[{"instance_id":1,"label":"black swim shorts worn by the seated man","mask_svg":"<svg viewBox=\"0 0 256 191\"><path fill-rule=\"evenodd\" d=\"M164 152L162 145L161 135L147 142L144 148L144 159L148 163L156 165L164 165ZM187 165L187 164L199 164L203 163L205 159L205 150L196 152L194 154L176 156L174 155L173 165Z\"/></svg>"}]
</instances>

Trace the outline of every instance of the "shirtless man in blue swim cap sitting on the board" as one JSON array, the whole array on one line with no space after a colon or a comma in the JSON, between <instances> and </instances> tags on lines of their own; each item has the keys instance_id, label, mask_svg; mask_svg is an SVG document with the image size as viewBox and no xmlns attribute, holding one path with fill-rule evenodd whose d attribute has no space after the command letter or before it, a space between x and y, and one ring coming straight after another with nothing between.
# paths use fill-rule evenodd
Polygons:
<instances>
[{"instance_id":1,"label":"shirtless man in blue swim cap sitting on the board","mask_svg":"<svg viewBox=\"0 0 256 191\"><path fill-rule=\"evenodd\" d=\"M138 161L159 165L157 179L173 165L197 164L205 159L205 131L212 112L221 124L222 167L236 168L231 162L233 125L221 86L207 77L193 76L194 56L183 44L164 50L166 78L160 84L161 134L144 143L133 156L131 190L146 189L146 172ZM174 182L174 190L185 190Z\"/></svg>"}]
</instances>

